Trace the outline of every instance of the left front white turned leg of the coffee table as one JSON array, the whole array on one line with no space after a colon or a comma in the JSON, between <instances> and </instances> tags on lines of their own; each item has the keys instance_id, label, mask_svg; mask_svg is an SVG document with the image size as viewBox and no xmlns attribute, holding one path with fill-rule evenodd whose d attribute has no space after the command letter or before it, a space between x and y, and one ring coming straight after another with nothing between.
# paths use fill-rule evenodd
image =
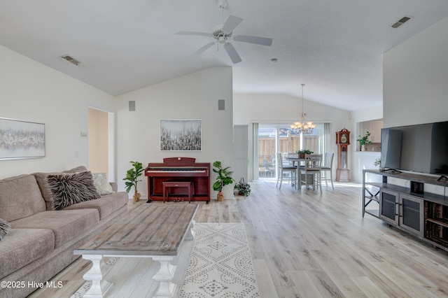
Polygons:
<instances>
[{"instance_id":1,"label":"left front white turned leg of the coffee table","mask_svg":"<svg viewBox=\"0 0 448 298\"><path fill-rule=\"evenodd\" d=\"M104 279L102 267L105 266L102 255L83 255L84 260L92 261L92 268L87 271L83 278L92 281L92 287L85 293L84 297L103 298L107 290L113 285Z\"/></svg>"}]
</instances>

